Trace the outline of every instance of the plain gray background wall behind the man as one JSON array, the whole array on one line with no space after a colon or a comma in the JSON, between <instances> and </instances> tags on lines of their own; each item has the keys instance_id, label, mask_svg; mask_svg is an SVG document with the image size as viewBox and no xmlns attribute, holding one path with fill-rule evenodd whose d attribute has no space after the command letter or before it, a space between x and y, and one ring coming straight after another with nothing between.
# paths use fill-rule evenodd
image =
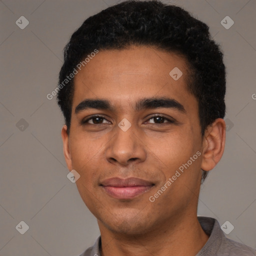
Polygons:
<instances>
[{"instance_id":1,"label":"plain gray background wall behind the man","mask_svg":"<svg viewBox=\"0 0 256 256\"><path fill-rule=\"evenodd\" d=\"M55 97L62 49L88 16L117 0L0 1L0 255L71 256L99 235L67 179ZM255 0L164 1L206 22L227 68L226 148L201 186L198 215L226 220L229 238L256 248ZM21 16L29 24L20 29ZM225 29L220 21L230 16ZM254 96L253 96L254 95ZM28 123L25 126L24 120ZM22 126L24 125L24 126ZM20 234L15 226L25 221Z\"/></svg>"}]
</instances>

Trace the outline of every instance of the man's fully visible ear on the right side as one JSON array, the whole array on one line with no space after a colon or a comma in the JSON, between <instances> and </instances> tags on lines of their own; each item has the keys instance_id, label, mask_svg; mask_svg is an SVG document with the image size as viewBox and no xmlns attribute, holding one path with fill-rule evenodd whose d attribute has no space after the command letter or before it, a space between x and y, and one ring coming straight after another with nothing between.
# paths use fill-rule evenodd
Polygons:
<instances>
[{"instance_id":1,"label":"man's fully visible ear on the right side","mask_svg":"<svg viewBox=\"0 0 256 256\"><path fill-rule=\"evenodd\" d=\"M226 124L222 118L217 118L205 130L203 137L201 169L213 169L223 155L225 147Z\"/></svg>"}]
</instances>

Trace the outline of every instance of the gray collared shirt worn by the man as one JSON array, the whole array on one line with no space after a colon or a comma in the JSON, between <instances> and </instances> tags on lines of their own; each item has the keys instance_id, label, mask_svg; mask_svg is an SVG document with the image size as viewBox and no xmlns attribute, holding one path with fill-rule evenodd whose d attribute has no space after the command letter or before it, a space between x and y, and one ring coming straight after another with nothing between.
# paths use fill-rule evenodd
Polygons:
<instances>
[{"instance_id":1,"label":"gray collared shirt worn by the man","mask_svg":"<svg viewBox=\"0 0 256 256\"><path fill-rule=\"evenodd\" d=\"M230 240L220 228L218 221L210 217L197 216L198 221L206 234L207 242L195 256L255 256L256 250L242 243ZM86 249L79 256L100 256L100 235L93 246Z\"/></svg>"}]
</instances>

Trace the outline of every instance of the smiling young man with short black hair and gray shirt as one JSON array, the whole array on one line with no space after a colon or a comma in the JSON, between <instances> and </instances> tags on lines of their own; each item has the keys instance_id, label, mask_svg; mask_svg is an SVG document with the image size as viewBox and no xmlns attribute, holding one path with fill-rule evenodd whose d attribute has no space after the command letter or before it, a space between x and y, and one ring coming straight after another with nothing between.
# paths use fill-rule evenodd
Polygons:
<instances>
[{"instance_id":1,"label":"smiling young man with short black hair and gray shirt","mask_svg":"<svg viewBox=\"0 0 256 256\"><path fill-rule=\"evenodd\" d=\"M67 167L100 236L80 256L255 255L197 217L225 143L225 67L180 7L125 1L65 47L58 104Z\"/></svg>"}]
</instances>

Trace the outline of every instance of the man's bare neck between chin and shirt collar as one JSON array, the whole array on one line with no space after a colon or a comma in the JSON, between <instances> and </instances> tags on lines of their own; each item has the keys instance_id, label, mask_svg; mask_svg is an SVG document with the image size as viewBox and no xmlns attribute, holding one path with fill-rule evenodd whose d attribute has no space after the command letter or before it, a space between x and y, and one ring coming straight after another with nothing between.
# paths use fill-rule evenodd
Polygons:
<instances>
[{"instance_id":1,"label":"man's bare neck between chin and shirt collar","mask_svg":"<svg viewBox=\"0 0 256 256\"><path fill-rule=\"evenodd\" d=\"M116 233L98 220L101 233L101 256L194 256L206 243L196 215L171 219L141 234Z\"/></svg>"}]
</instances>

